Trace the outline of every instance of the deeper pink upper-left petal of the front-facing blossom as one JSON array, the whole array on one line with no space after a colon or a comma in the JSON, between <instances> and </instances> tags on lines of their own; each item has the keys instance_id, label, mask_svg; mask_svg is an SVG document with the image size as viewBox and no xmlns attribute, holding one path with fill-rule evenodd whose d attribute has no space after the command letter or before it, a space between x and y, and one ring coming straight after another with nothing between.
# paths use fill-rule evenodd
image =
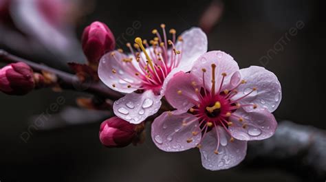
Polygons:
<instances>
[{"instance_id":1,"label":"deeper pink upper-left petal of the front-facing blossom","mask_svg":"<svg viewBox=\"0 0 326 182\"><path fill-rule=\"evenodd\" d=\"M165 98L175 109L186 112L199 100L195 89L200 91L200 85L196 76L180 71L167 84Z\"/></svg>"}]
</instances>

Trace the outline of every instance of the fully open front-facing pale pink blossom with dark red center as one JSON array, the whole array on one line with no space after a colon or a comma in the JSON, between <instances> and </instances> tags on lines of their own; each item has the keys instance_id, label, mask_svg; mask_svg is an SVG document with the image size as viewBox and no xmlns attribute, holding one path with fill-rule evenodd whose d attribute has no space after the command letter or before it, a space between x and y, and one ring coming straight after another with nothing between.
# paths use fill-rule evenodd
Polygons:
<instances>
[{"instance_id":1,"label":"fully open front-facing pale pink blossom with dark red center","mask_svg":"<svg viewBox=\"0 0 326 182\"><path fill-rule=\"evenodd\" d=\"M154 120L156 146L168 152L197 146L204 168L223 170L244 159L247 141L274 134L271 113L281 102L281 85L263 67L239 70L230 55L212 51L198 58L191 73L176 73L165 97L177 110Z\"/></svg>"}]
</instances>

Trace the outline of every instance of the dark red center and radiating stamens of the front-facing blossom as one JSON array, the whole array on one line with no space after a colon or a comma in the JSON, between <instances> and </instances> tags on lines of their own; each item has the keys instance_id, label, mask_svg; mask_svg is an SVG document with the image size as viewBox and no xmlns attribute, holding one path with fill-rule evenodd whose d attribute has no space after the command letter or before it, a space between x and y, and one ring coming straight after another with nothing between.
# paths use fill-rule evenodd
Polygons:
<instances>
[{"instance_id":1,"label":"dark red center and radiating stamens of the front-facing blossom","mask_svg":"<svg viewBox=\"0 0 326 182\"><path fill-rule=\"evenodd\" d=\"M233 123L230 121L230 118L236 119L239 123L242 124L243 128L247 127L246 121L243 120L242 117L235 114L235 111L241 107L252 107L253 109L257 108L256 104L239 104L239 101L243 98L246 98L248 95L250 95L253 91L256 91L256 88L252 88L252 90L245 95L241 96L237 99L232 99L235 97L235 95L238 94L237 88L240 84L246 84L245 80L241 80L239 84L235 88L232 88L231 91L228 91L227 89L224 89L222 91L222 87L224 86L224 78L226 77L226 73L221 73L221 84L219 85L219 89L215 90L215 69L216 65L212 64L212 87L210 91L208 91L205 88L205 73L206 69L202 69L202 80L203 84L199 91L198 88L195 88L195 93L197 93L197 96L199 98L199 101L193 101L193 106L191 109L189 109L190 113L193 113L197 117L196 120L191 121L184 121L184 126L186 126L188 123L191 122L198 122L197 128L192 131L192 135L197 135L199 132L202 133L202 139L204 139L206 133L208 130L215 129L216 135L217 135L217 146L216 150L214 151L215 154L219 153L219 132L217 130L217 126L220 126L226 130L226 133L230 135L230 142L234 141L234 138L230 134L230 131L228 130L229 127L232 127ZM193 83L193 86L197 85L195 82ZM191 100L191 98L190 98ZM199 141L199 144L197 145L198 148L201 147L201 141ZM187 139L187 142L192 142L192 137Z\"/></svg>"}]
</instances>

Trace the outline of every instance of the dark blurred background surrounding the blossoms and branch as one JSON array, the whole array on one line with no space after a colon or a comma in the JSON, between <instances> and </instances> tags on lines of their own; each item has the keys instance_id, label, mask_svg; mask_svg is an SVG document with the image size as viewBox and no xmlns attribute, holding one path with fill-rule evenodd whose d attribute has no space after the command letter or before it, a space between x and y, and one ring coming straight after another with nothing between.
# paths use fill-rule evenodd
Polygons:
<instances>
[{"instance_id":1,"label":"dark blurred background surrounding the blossoms and branch","mask_svg":"<svg viewBox=\"0 0 326 182\"><path fill-rule=\"evenodd\" d=\"M135 36L151 38L151 30L158 28L160 23L165 23L168 29L175 28L179 33L199 24L206 26L209 50L227 52L241 68L259 65L278 76L283 99L274 112L277 120L326 129L323 76L325 6L318 1L228 0L215 1L214 4L208 0L98 0L87 5L88 14L76 24L78 38L89 23L102 21L107 23L116 38L120 38L122 48ZM217 16L215 24L206 25L208 20L203 14L212 5L217 5L213 12L221 11L221 16L213 13L212 16ZM133 27L135 21L140 23L140 28L133 28L133 34L127 34L126 30ZM303 26L298 28L298 22ZM294 29L296 34L292 32ZM33 60L32 56L28 58ZM41 59L38 57L35 61ZM52 65L56 63L52 62ZM28 141L21 139L33 124L31 115L46 113L62 96L65 103L59 104L57 112L48 113L49 117L54 117L65 106L76 106L78 95L83 94L73 91L54 93L50 89L34 91L24 97L0 93L1 182L304 181L287 170L246 168L246 163L230 170L211 172L202 167L198 150L162 152L155 148L150 135L140 146L108 149L98 139L100 122L105 118L88 124L34 130Z\"/></svg>"}]
</instances>

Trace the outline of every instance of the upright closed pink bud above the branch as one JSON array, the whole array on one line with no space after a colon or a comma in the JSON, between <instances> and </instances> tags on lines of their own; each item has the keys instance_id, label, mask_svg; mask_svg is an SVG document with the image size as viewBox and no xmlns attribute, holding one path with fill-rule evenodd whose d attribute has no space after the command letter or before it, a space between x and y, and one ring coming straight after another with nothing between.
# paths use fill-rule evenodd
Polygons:
<instances>
[{"instance_id":1,"label":"upright closed pink bud above the branch","mask_svg":"<svg viewBox=\"0 0 326 182\"><path fill-rule=\"evenodd\" d=\"M105 23L95 21L85 28L82 36L83 51L89 62L98 63L100 58L116 46L114 36Z\"/></svg>"}]
</instances>

